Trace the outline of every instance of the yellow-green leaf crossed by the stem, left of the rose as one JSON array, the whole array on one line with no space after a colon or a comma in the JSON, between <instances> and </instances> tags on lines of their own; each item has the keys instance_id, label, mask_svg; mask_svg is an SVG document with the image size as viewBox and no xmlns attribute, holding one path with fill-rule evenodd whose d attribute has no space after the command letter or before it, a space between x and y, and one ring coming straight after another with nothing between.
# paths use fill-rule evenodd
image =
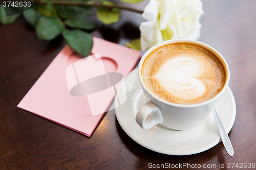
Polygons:
<instances>
[{"instance_id":1,"label":"yellow-green leaf crossed by the stem, left of the rose","mask_svg":"<svg viewBox=\"0 0 256 170\"><path fill-rule=\"evenodd\" d=\"M114 3L109 1L101 1L104 5L114 5ZM115 23L119 20L120 10L117 8L106 8L101 7L97 9L97 17L103 22L105 25L109 25L110 23Z\"/></svg>"}]
</instances>

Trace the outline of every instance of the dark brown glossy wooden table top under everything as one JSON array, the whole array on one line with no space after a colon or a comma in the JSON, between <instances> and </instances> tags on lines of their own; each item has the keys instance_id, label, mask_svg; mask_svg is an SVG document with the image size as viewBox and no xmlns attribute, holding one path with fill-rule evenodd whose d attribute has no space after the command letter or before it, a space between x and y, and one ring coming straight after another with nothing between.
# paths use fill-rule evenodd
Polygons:
<instances>
[{"instance_id":1,"label":"dark brown glossy wooden table top under everything","mask_svg":"<svg viewBox=\"0 0 256 170\"><path fill-rule=\"evenodd\" d=\"M0 27L0 169L148 169L148 163L166 162L217 167L225 163L228 169L232 162L256 163L256 1L210 0L203 5L199 40L216 48L231 72L229 87L237 103L236 121L229 133L233 157L222 143L188 156L148 150L126 135L114 110L105 114L89 138L17 108L65 45L59 37L38 40L20 18ZM93 35L120 44L137 38L143 21L140 14L124 11L121 17L119 23L100 26Z\"/></svg>"}]
</instances>

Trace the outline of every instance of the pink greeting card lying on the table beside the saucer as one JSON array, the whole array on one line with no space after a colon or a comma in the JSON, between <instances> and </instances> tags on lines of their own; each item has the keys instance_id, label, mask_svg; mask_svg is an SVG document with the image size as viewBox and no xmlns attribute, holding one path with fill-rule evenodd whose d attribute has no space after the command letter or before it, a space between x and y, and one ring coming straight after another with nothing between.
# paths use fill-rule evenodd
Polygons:
<instances>
[{"instance_id":1,"label":"pink greeting card lying on the table beside the saucer","mask_svg":"<svg viewBox=\"0 0 256 170\"><path fill-rule=\"evenodd\" d=\"M105 73L118 72L125 77L140 58L140 52L131 48L96 37L93 41L92 55L100 54ZM66 78L66 69L81 59L79 54L66 45L17 107L91 136L104 113L93 116L89 105L92 99L88 100L87 95L71 95ZM83 59L82 77L91 78L102 72L99 71L100 68L97 69L96 60L97 58L93 57ZM115 94L101 101L103 103L99 106L100 110L106 111L114 96Z\"/></svg>"}]
</instances>

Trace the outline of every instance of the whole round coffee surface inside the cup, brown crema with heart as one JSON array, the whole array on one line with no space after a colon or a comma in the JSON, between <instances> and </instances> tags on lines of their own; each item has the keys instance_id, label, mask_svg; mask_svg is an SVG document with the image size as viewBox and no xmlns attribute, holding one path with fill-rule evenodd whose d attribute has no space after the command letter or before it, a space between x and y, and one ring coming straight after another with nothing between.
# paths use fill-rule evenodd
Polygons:
<instances>
[{"instance_id":1,"label":"whole round coffee surface inside the cup, brown crema with heart","mask_svg":"<svg viewBox=\"0 0 256 170\"><path fill-rule=\"evenodd\" d=\"M217 95L225 83L218 58L194 43L166 44L144 60L146 87L160 99L176 104L197 104Z\"/></svg>"}]
</instances>

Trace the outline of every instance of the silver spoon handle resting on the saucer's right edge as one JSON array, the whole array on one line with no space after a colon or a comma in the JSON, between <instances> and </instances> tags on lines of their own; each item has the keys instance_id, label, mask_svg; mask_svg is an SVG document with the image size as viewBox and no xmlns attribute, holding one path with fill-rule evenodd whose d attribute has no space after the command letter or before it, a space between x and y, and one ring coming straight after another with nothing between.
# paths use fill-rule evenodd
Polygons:
<instances>
[{"instance_id":1,"label":"silver spoon handle resting on the saucer's right edge","mask_svg":"<svg viewBox=\"0 0 256 170\"><path fill-rule=\"evenodd\" d=\"M224 144L224 147L225 147L228 155L233 156L234 155L234 150L233 150L232 144L230 142L230 139L227 135L226 129L225 129L223 123L222 123L221 117L220 117L216 108L213 110L213 112L214 112L214 117L215 117L215 120L216 120L217 127L219 129L219 133L220 133L220 136L221 136L221 140Z\"/></svg>"}]
</instances>

